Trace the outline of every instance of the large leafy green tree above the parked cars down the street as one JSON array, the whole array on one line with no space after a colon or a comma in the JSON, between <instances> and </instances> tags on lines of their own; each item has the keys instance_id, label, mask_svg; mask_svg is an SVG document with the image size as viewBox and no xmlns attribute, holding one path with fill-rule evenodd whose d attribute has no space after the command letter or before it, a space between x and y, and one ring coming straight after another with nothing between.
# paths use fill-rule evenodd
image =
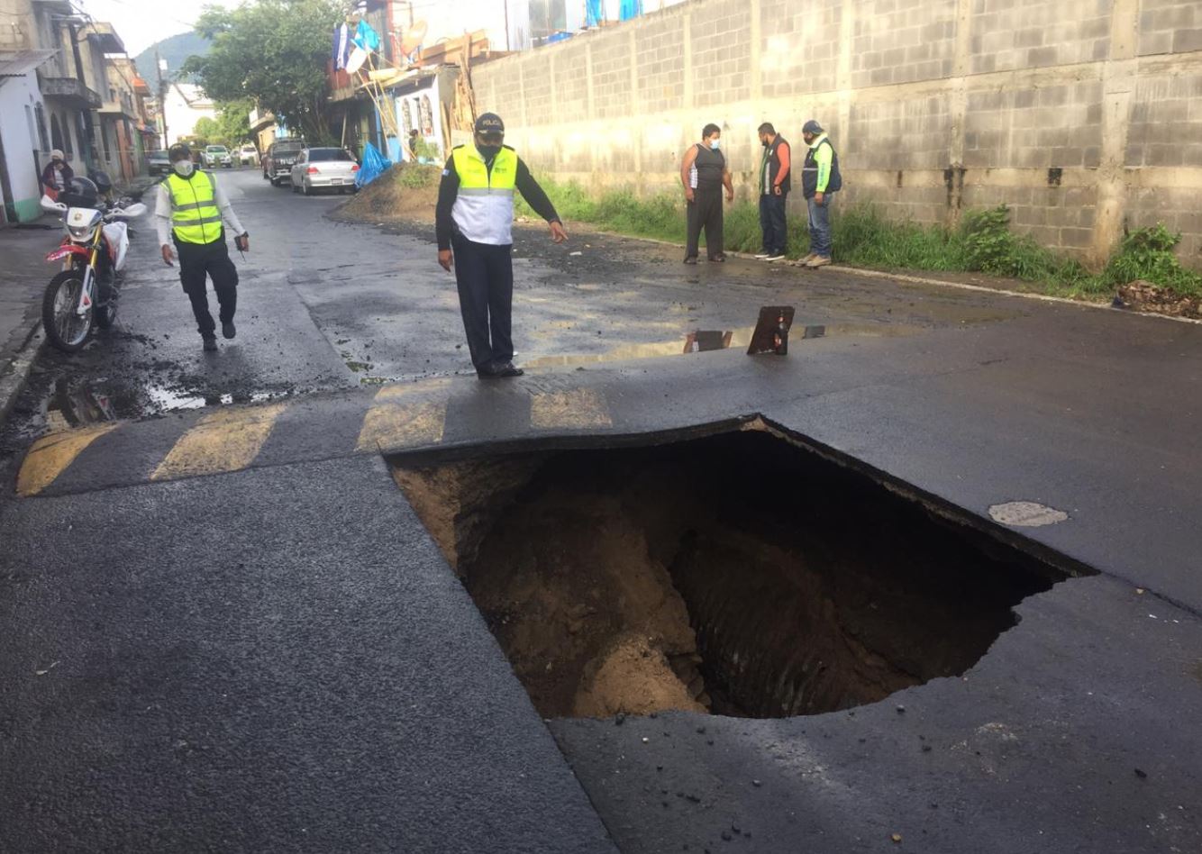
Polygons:
<instances>
[{"instance_id":1,"label":"large leafy green tree above the parked cars down the street","mask_svg":"<svg viewBox=\"0 0 1202 854\"><path fill-rule=\"evenodd\" d=\"M331 34L343 19L334 0L260 0L238 8L210 6L196 31L212 40L204 56L182 68L215 101L250 98L310 143L332 138L322 109ZM250 129L246 129L246 137Z\"/></svg>"}]
</instances>

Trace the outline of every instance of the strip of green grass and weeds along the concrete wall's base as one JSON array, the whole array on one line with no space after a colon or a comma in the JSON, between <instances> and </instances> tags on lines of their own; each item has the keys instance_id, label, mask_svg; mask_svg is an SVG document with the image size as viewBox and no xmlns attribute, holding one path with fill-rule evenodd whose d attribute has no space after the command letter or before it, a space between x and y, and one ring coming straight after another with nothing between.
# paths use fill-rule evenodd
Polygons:
<instances>
[{"instance_id":1,"label":"strip of green grass and weeds along the concrete wall's base","mask_svg":"<svg viewBox=\"0 0 1202 854\"><path fill-rule=\"evenodd\" d=\"M645 198L629 190L590 192L576 183L540 179L565 220L602 231L684 245L684 199L678 193ZM518 198L519 215L537 215ZM1185 269L1173 253L1180 234L1158 223L1127 234L1109 262L1091 273L1081 263L1010 231L1005 205L968 211L959 228L892 220L871 204L837 205L832 216L835 261L877 270L983 273L1017 279L1024 289L1052 297L1108 300L1118 286L1135 280L1202 295L1202 274ZM748 202L726 208L726 249L758 252L760 211ZM804 216L789 217L790 258L809 253Z\"/></svg>"}]
</instances>

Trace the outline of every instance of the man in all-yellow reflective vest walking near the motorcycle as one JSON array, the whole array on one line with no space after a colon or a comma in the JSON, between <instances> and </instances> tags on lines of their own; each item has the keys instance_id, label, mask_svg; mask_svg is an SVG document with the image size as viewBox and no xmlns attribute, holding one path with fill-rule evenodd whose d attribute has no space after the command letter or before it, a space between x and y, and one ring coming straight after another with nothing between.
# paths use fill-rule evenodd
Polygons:
<instances>
[{"instance_id":1,"label":"man in all-yellow reflective vest walking near the motorcycle","mask_svg":"<svg viewBox=\"0 0 1202 854\"><path fill-rule=\"evenodd\" d=\"M159 183L155 204L159 245L168 267L174 258L171 245L174 244L179 252L179 281L192 303L204 350L212 352L218 348L218 339L216 324L209 313L206 276L213 279L221 306L221 334L227 339L236 334L233 315L238 305L238 269L230 259L222 216L237 235L234 245L243 252L250 249L250 234L242 227L216 179L194 168L188 145L175 143L167 156L172 171Z\"/></svg>"}]
</instances>

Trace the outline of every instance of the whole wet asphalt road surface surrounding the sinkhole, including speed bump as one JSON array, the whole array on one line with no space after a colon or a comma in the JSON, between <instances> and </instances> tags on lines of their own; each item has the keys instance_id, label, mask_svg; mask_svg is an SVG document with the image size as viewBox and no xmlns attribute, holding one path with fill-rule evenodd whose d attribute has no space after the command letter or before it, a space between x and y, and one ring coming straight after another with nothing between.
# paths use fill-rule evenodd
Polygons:
<instances>
[{"instance_id":1,"label":"whole wet asphalt road surface surrounding the sinkhole, including speed bump","mask_svg":"<svg viewBox=\"0 0 1202 854\"><path fill-rule=\"evenodd\" d=\"M428 227L219 179L238 338L143 223L0 436L0 850L1202 849L1202 327L530 228L482 383ZM683 352L768 304L787 358ZM859 709L543 722L382 459L749 425L1065 580Z\"/></svg>"}]
</instances>

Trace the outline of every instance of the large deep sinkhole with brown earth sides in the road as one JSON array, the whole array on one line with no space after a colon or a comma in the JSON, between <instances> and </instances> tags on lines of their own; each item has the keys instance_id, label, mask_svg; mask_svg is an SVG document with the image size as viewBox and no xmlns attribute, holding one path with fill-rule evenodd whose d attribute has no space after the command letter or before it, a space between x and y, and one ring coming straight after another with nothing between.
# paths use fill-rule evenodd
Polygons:
<instances>
[{"instance_id":1,"label":"large deep sinkhole with brown earth sides in the road","mask_svg":"<svg viewBox=\"0 0 1202 854\"><path fill-rule=\"evenodd\" d=\"M391 460L543 717L874 703L1093 572L761 419L668 438Z\"/></svg>"}]
</instances>

